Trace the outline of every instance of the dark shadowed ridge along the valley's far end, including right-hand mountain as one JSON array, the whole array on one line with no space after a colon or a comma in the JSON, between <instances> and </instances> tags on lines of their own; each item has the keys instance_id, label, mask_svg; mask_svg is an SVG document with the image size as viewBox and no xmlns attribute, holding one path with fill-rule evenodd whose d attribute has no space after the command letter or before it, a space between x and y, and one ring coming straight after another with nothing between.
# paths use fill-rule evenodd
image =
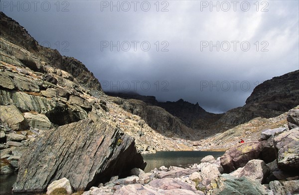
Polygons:
<instances>
[{"instance_id":1,"label":"dark shadowed ridge along the valley's far end, including right-hand mountain","mask_svg":"<svg viewBox=\"0 0 299 195\"><path fill-rule=\"evenodd\" d=\"M257 117L274 118L298 106L299 70L274 77L259 84L247 98L243 107L231 109L223 114L206 112L198 103L192 104L183 99L176 102L158 102L154 96L130 93L110 93L110 95L131 101L131 104L133 102L132 99L137 99L145 102L147 106L163 108L171 115L177 117L180 123L195 130L194 134L201 139L204 138L204 134L221 133ZM137 101L135 103L138 104ZM135 105L135 107L138 106ZM132 111L132 108L131 112L145 119L143 114ZM150 119L146 121L149 124L151 122Z\"/></svg>"}]
</instances>

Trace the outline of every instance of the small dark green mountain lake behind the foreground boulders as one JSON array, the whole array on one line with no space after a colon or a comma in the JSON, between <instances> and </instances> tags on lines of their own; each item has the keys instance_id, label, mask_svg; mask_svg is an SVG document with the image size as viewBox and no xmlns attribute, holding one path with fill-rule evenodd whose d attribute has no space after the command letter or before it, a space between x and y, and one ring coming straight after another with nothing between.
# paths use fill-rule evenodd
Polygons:
<instances>
[{"instance_id":1,"label":"small dark green mountain lake behind the foreground boulders","mask_svg":"<svg viewBox=\"0 0 299 195\"><path fill-rule=\"evenodd\" d=\"M145 172L149 172L154 168L161 166L169 167L187 167L187 165L199 164L200 160L208 155L212 155L215 159L221 157L224 152L204 152L204 151L171 151L156 152L156 154L143 155L147 162Z\"/></svg>"}]
</instances>

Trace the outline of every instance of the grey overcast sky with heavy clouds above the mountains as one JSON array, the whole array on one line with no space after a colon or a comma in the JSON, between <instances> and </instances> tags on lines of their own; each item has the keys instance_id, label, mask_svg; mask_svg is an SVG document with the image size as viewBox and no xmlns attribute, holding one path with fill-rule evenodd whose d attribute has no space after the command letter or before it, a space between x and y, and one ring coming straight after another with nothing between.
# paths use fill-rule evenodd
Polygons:
<instances>
[{"instance_id":1,"label":"grey overcast sky with heavy clouds above the mountains","mask_svg":"<svg viewBox=\"0 0 299 195\"><path fill-rule=\"evenodd\" d=\"M0 3L40 44L83 62L104 91L222 113L243 106L257 84L299 69L298 0Z\"/></svg>"}]
</instances>

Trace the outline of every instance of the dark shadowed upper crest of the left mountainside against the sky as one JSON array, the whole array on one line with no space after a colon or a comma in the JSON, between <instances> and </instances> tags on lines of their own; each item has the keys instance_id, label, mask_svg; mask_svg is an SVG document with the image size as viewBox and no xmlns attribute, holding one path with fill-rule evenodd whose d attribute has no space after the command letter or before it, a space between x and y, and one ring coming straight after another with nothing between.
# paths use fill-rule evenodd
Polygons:
<instances>
[{"instance_id":1,"label":"dark shadowed upper crest of the left mountainside against the sky","mask_svg":"<svg viewBox=\"0 0 299 195\"><path fill-rule=\"evenodd\" d=\"M29 67L33 71L45 72L44 66L51 66L64 70L71 75L69 80L76 80L81 87L90 91L93 95L103 94L98 79L79 60L72 57L61 56L55 49L40 46L37 41L28 34L26 29L18 22L0 12L0 36L3 41L8 41L18 47L10 47L1 44L2 61L11 62L9 55L17 58L19 64ZM7 45L7 47L5 46ZM27 52L33 55L28 55ZM53 70L53 74L56 74ZM61 73L57 73L60 75Z\"/></svg>"}]
</instances>

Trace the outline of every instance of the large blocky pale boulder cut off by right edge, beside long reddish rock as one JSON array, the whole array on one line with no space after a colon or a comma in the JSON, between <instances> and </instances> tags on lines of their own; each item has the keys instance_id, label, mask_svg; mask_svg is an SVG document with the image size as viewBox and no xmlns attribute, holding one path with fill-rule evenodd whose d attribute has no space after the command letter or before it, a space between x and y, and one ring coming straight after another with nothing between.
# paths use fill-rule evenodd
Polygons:
<instances>
[{"instance_id":1,"label":"large blocky pale boulder cut off by right edge, beside long reddish rock","mask_svg":"<svg viewBox=\"0 0 299 195\"><path fill-rule=\"evenodd\" d=\"M277 165L285 171L299 171L299 128L284 132L274 138Z\"/></svg>"}]
</instances>

